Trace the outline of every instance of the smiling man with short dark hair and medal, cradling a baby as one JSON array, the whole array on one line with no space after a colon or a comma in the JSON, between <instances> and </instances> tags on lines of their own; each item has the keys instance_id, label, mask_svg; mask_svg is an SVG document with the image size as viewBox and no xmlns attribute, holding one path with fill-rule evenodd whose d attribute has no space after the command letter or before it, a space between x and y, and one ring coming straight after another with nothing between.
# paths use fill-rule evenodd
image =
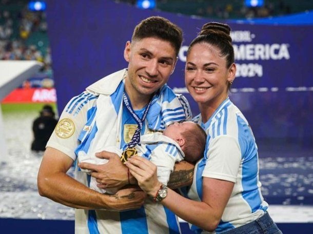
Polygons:
<instances>
[{"instance_id":1,"label":"smiling man with short dark hair and medal, cradling a baby","mask_svg":"<svg viewBox=\"0 0 313 234\"><path fill-rule=\"evenodd\" d=\"M92 84L64 109L38 172L38 191L78 208L76 233L179 232L177 219L162 205L148 201L142 206L142 191L124 188L114 196L101 194L88 188L90 175L80 168L75 171L78 181L66 171L80 153L94 154L110 145L127 150L139 142L140 134L190 119L186 100L165 84L174 71L181 43L178 26L162 17L145 19L135 27L132 41L126 43L128 69ZM96 155L106 157L104 152ZM91 166L92 177L101 183L101 178L116 176L118 181L123 178L120 187L130 184L133 178L127 168L111 158L105 165Z\"/></svg>"}]
</instances>

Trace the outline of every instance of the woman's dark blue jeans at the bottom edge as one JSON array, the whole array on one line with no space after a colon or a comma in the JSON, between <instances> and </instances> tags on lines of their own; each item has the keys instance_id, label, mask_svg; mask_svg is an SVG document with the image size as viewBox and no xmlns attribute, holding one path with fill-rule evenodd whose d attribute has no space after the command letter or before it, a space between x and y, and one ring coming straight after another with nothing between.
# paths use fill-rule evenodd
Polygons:
<instances>
[{"instance_id":1,"label":"woman's dark blue jeans at the bottom edge","mask_svg":"<svg viewBox=\"0 0 313 234\"><path fill-rule=\"evenodd\" d=\"M282 234L283 232L277 227L276 223L266 212L259 219L242 225L240 227L223 232L223 234Z\"/></svg>"}]
</instances>

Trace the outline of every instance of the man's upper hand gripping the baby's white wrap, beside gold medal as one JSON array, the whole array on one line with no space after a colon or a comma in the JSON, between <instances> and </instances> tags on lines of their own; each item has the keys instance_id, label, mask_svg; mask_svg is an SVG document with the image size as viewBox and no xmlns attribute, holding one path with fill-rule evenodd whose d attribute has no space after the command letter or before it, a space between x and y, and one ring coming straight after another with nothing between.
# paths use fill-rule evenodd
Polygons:
<instances>
[{"instance_id":1,"label":"man's upper hand gripping the baby's white wrap, beside gold medal","mask_svg":"<svg viewBox=\"0 0 313 234\"><path fill-rule=\"evenodd\" d=\"M116 153L101 151L95 154L97 158L108 159L106 164L95 165L90 163L80 163L82 169L92 171L91 176L96 179L99 188L122 188L128 184L128 169L121 162L120 157Z\"/></svg>"}]
</instances>

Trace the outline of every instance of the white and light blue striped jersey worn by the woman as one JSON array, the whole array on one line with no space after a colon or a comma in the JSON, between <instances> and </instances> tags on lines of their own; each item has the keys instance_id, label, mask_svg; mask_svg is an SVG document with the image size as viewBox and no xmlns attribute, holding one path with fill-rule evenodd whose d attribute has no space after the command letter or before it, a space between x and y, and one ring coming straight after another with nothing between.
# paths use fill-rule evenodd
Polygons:
<instances>
[{"instance_id":1,"label":"white and light blue striped jersey worn by the woman","mask_svg":"<svg viewBox=\"0 0 313 234\"><path fill-rule=\"evenodd\" d=\"M202 200L203 177L234 183L216 233L261 217L268 204L260 189L258 148L241 111L227 98L206 123L200 115L194 121L206 131L207 142L203 159L195 165L188 197ZM194 225L190 228L195 233L207 233Z\"/></svg>"}]
</instances>

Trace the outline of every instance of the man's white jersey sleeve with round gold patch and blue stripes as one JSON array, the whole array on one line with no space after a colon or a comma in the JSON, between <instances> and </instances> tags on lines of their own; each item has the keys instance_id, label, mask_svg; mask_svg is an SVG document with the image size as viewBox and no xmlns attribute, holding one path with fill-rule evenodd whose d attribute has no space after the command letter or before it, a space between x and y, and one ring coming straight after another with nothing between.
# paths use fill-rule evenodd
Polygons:
<instances>
[{"instance_id":1,"label":"man's white jersey sleeve with round gold patch and blue stripes","mask_svg":"<svg viewBox=\"0 0 313 234\"><path fill-rule=\"evenodd\" d=\"M95 96L83 92L73 97L64 108L46 147L52 147L75 160L79 135L87 122L88 111L95 105Z\"/></svg>"}]
</instances>

